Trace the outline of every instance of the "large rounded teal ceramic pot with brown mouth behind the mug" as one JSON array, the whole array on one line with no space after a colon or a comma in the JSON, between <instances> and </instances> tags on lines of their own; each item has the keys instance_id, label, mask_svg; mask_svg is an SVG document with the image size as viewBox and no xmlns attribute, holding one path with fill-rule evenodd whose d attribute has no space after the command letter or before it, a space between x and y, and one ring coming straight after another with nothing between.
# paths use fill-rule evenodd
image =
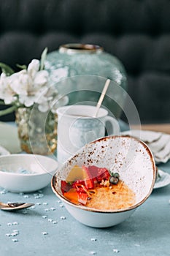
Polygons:
<instances>
[{"instance_id":1,"label":"large rounded teal ceramic pot with brown mouth behind the mug","mask_svg":"<svg viewBox=\"0 0 170 256\"><path fill-rule=\"evenodd\" d=\"M95 105L107 78L127 90L123 64L98 45L61 45L58 50L47 54L45 69L50 72L51 83L55 84L58 91L64 91L69 96L69 105L82 102L93 102L90 105ZM119 117L125 94L123 90L118 92L112 85L109 87L111 89L104 98L103 106Z\"/></svg>"}]
</instances>

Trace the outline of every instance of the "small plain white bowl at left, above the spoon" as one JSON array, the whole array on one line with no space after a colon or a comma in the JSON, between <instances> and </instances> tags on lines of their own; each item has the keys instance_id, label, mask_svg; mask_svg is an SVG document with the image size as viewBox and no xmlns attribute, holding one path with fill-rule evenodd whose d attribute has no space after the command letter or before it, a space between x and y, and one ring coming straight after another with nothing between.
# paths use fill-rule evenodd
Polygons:
<instances>
[{"instance_id":1,"label":"small plain white bowl at left, above the spoon","mask_svg":"<svg viewBox=\"0 0 170 256\"><path fill-rule=\"evenodd\" d=\"M50 157L9 154L0 157L0 187L10 192L33 192L46 187L58 168ZM26 173L21 173L26 170Z\"/></svg>"}]
</instances>

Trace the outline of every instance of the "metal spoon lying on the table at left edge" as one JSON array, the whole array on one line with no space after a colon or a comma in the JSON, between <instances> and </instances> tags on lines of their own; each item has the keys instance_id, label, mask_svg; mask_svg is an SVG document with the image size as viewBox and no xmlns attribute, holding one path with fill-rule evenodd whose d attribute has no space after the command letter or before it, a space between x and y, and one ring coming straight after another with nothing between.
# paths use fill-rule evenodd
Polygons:
<instances>
[{"instance_id":1,"label":"metal spoon lying on the table at left edge","mask_svg":"<svg viewBox=\"0 0 170 256\"><path fill-rule=\"evenodd\" d=\"M4 211L17 211L23 208L34 206L34 203L2 203L0 202L0 209Z\"/></svg>"}]
</instances>

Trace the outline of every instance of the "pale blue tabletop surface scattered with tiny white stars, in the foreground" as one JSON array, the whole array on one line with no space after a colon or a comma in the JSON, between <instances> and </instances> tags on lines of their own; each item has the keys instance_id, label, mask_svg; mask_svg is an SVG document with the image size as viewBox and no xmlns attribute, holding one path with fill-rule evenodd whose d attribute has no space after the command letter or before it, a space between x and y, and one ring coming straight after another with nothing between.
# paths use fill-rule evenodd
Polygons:
<instances>
[{"instance_id":1,"label":"pale blue tabletop surface scattered with tiny white stars, in the foreground","mask_svg":"<svg viewBox=\"0 0 170 256\"><path fill-rule=\"evenodd\" d=\"M170 173L170 162L160 165ZM125 222L98 229L77 222L50 185L31 194L0 189L0 200L35 203L18 212L0 211L0 255L170 255L170 185L154 189Z\"/></svg>"}]
</instances>

